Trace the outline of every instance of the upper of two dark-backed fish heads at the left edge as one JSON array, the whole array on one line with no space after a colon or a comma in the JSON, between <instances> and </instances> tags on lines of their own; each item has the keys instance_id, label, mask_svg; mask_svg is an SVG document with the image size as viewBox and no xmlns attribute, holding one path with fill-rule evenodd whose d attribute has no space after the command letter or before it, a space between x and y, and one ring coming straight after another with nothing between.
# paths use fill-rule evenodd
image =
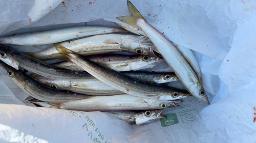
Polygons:
<instances>
[{"instance_id":1,"label":"upper of two dark-backed fish heads at the left edge","mask_svg":"<svg viewBox=\"0 0 256 143\"><path fill-rule=\"evenodd\" d=\"M11 47L0 45L0 60L18 70L19 62L15 59L15 56L18 53L15 52L16 50L12 49Z\"/></svg>"}]
</instances>

